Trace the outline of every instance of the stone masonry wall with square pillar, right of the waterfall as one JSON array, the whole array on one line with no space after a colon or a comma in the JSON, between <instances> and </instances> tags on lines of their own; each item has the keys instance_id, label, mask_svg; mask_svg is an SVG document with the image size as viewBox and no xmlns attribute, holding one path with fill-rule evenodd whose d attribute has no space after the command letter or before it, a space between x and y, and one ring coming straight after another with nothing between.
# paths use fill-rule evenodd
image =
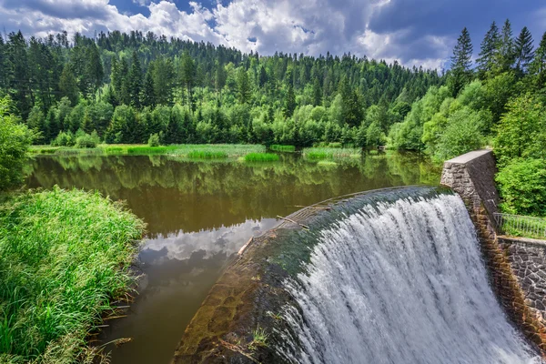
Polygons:
<instances>
[{"instance_id":1,"label":"stone masonry wall with square pillar, right of the waterfall","mask_svg":"<svg viewBox=\"0 0 546 364\"><path fill-rule=\"evenodd\" d=\"M490 284L511 321L546 356L546 242L498 237L492 214L499 195L494 184L495 159L480 150L444 163L441 184L465 202L476 227Z\"/></svg>"}]
</instances>

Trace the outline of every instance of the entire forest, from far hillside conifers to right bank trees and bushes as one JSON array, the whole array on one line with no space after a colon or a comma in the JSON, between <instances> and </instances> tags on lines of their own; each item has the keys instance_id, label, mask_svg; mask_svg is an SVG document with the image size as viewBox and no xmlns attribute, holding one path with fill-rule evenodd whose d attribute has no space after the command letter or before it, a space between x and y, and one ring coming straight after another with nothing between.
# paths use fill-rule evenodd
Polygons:
<instances>
[{"instance_id":1,"label":"entire forest, from far hillside conifers to right bank trees and bushes","mask_svg":"<svg viewBox=\"0 0 546 364\"><path fill-rule=\"evenodd\" d=\"M441 73L350 54L243 54L138 31L17 32L0 37L0 95L35 144L336 143L439 162L490 146L501 186L521 166L546 180L546 33L535 42L527 27L514 35L508 19L493 22L476 53L466 28ZM512 212L546 213L532 200Z\"/></svg>"}]
</instances>

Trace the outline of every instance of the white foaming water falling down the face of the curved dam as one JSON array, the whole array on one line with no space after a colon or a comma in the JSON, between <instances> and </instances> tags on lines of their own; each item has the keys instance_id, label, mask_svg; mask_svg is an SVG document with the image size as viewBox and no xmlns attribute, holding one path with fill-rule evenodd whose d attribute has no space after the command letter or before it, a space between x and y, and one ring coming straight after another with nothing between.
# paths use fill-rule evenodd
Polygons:
<instances>
[{"instance_id":1,"label":"white foaming water falling down the face of the curved dam","mask_svg":"<svg viewBox=\"0 0 546 364\"><path fill-rule=\"evenodd\" d=\"M460 197L364 207L321 233L306 271L286 282L302 312L285 313L291 362L541 362L493 296Z\"/></svg>"}]
</instances>

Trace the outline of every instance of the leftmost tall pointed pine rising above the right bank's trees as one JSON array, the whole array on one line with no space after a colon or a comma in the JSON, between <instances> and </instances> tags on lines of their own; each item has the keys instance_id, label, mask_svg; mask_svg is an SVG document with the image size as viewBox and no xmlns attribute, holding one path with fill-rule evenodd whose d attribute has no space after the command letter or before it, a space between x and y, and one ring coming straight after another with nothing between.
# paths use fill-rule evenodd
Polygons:
<instances>
[{"instance_id":1,"label":"leftmost tall pointed pine rising above the right bank's trees","mask_svg":"<svg viewBox=\"0 0 546 364\"><path fill-rule=\"evenodd\" d=\"M472 77L471 58L472 42L469 31L465 27L457 39L457 45L453 48L453 56L451 56L450 89L453 96L457 96L462 87L470 83Z\"/></svg>"}]
</instances>

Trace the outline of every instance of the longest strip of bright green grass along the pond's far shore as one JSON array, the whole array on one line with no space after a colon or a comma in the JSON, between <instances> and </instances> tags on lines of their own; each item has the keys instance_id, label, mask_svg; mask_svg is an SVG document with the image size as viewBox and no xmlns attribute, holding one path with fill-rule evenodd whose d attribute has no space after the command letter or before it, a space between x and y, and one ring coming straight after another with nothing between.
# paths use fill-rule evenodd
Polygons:
<instances>
[{"instance_id":1,"label":"longest strip of bright green grass along the pond's far shore","mask_svg":"<svg viewBox=\"0 0 546 364\"><path fill-rule=\"evenodd\" d=\"M108 145L103 144L95 148L75 147L49 147L33 146L30 148L32 154L45 155L86 155L98 154L106 156L148 156L148 155L170 155L189 158L211 158L211 157L244 157L249 153L263 153L266 147L245 144L181 144L172 146L149 147L139 144Z\"/></svg>"}]
</instances>

